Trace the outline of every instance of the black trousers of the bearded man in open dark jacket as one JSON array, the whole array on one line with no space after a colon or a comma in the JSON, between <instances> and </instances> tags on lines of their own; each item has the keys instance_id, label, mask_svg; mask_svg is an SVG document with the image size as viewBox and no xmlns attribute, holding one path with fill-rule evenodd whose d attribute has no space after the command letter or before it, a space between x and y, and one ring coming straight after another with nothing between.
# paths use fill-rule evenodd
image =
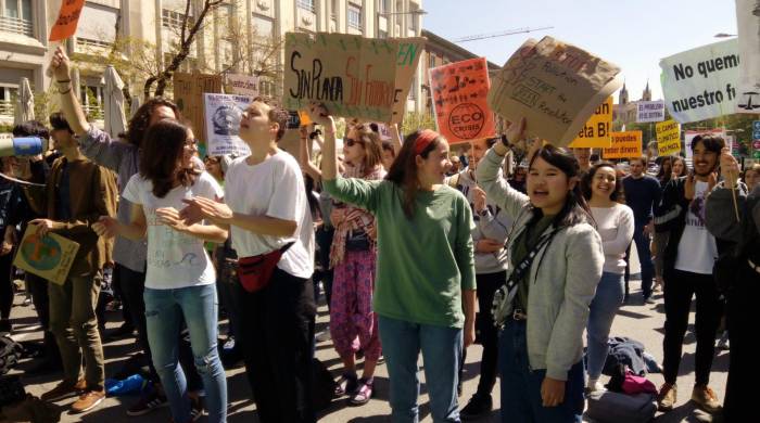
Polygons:
<instances>
[{"instance_id":1,"label":"black trousers of the bearded man in open dark jacket","mask_svg":"<svg viewBox=\"0 0 760 423\"><path fill-rule=\"evenodd\" d=\"M696 295L696 383L707 385L710 382L710 369L715 350L715 332L722 315L715 281L712 274L666 269L664 282L666 323L662 342L664 380L667 383L675 383L679 375L692 297Z\"/></svg>"}]
</instances>

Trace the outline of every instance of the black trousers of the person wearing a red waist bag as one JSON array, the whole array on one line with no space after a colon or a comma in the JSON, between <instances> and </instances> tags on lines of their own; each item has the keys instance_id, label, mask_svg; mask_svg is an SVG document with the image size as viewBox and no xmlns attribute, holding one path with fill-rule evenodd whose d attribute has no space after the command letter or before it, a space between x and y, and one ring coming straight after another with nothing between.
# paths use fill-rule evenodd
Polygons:
<instances>
[{"instance_id":1,"label":"black trousers of the person wearing a red waist bag","mask_svg":"<svg viewBox=\"0 0 760 423\"><path fill-rule=\"evenodd\" d=\"M269 284L249 293L239 285L240 341L262 423L314 423L312 341L314 286L275 269Z\"/></svg>"}]
</instances>

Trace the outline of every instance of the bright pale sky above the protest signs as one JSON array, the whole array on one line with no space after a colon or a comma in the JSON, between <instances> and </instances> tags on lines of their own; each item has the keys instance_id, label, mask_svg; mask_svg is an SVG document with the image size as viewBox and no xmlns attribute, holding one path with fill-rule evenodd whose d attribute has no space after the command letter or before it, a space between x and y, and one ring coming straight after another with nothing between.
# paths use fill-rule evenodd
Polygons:
<instances>
[{"instance_id":1,"label":"bright pale sky above the protest signs","mask_svg":"<svg viewBox=\"0 0 760 423\"><path fill-rule=\"evenodd\" d=\"M553 26L458 44L503 65L528 38L549 35L620 66L632 101L647 79L653 100L662 98L660 59L736 34L732 0L425 0L422 9L422 27L448 40Z\"/></svg>"}]
</instances>

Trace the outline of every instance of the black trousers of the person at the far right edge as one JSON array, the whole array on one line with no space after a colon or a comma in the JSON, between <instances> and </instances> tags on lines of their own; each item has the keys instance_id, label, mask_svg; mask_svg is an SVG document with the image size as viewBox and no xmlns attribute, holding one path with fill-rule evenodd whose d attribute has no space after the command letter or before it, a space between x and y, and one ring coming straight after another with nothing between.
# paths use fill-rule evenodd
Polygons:
<instances>
[{"instance_id":1,"label":"black trousers of the person at the far right edge","mask_svg":"<svg viewBox=\"0 0 760 423\"><path fill-rule=\"evenodd\" d=\"M757 307L760 298L760 273L740 264L738 278L729 291L727 323L731 338L729 381L723 412L726 422L740 422L756 411L755 389L760 368L752 349L757 333Z\"/></svg>"}]
</instances>

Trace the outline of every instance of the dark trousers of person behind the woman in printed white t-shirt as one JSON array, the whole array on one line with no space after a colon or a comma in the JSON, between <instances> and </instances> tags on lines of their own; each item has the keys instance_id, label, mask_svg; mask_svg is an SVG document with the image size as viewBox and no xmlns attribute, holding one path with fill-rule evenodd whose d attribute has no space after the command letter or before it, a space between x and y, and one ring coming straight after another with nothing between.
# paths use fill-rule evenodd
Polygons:
<instances>
[{"instance_id":1,"label":"dark trousers of person behind the woman in printed white t-shirt","mask_svg":"<svg viewBox=\"0 0 760 423\"><path fill-rule=\"evenodd\" d=\"M148 367L151 371L151 380L155 383L161 383L159 374L155 372L153 367L153 356L151 355L151 347L148 343L148 326L145 323L145 300L143 294L145 292L145 273L136 272L127 267L116 265L119 272L119 284L122 285L123 300L128 303L129 312L131 313L132 324L137 329L138 343L145 354L148 359ZM178 337L178 356L179 362L185 369L185 376L188 382L188 390L200 390L203 387L203 381L195 370L195 362L193 359L192 350L190 349L190 343L186 336L181 333L177 334Z\"/></svg>"}]
</instances>

